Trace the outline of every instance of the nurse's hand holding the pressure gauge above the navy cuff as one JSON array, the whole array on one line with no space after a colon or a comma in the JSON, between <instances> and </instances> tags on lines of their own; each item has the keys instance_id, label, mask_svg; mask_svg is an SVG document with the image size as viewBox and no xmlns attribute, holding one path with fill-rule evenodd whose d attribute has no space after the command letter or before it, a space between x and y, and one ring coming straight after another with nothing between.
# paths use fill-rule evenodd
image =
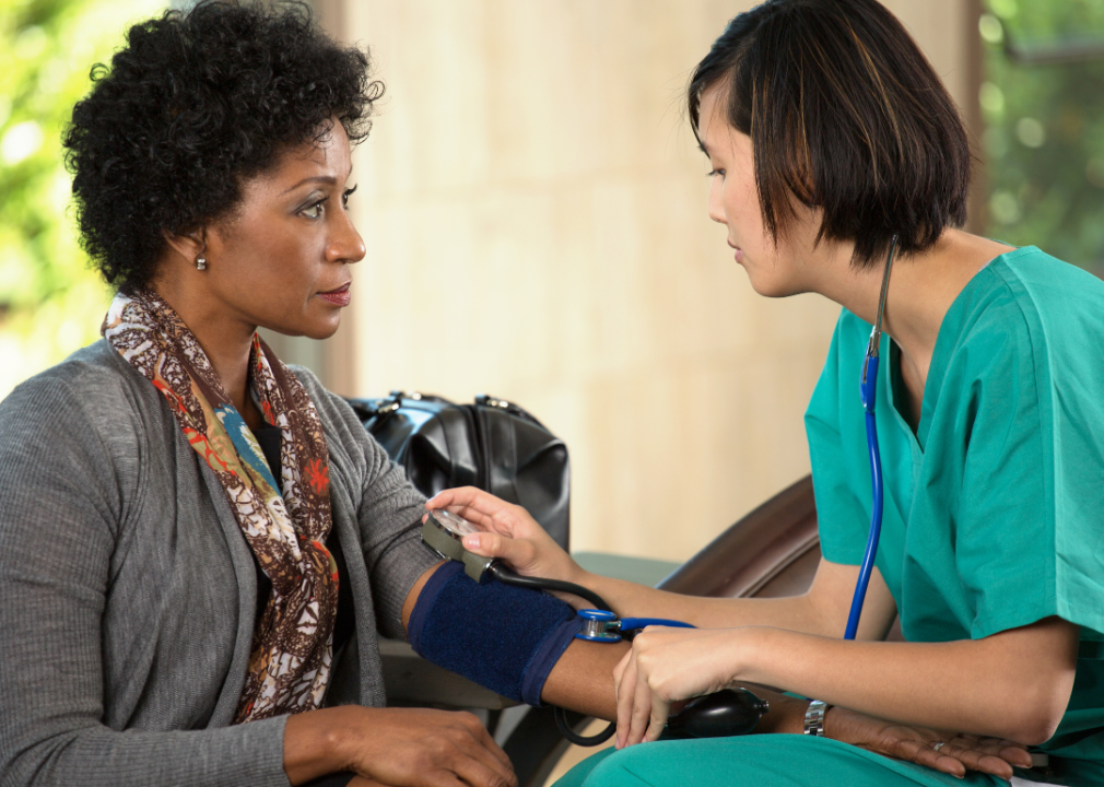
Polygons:
<instances>
[{"instance_id":1,"label":"nurse's hand holding the pressure gauge above the navy cuff","mask_svg":"<svg viewBox=\"0 0 1104 787\"><path fill-rule=\"evenodd\" d=\"M586 573L520 506L475 487L459 487L446 489L425 507L448 509L485 531L464 536L469 552L498 557L523 576L585 584L580 581Z\"/></svg>"}]
</instances>

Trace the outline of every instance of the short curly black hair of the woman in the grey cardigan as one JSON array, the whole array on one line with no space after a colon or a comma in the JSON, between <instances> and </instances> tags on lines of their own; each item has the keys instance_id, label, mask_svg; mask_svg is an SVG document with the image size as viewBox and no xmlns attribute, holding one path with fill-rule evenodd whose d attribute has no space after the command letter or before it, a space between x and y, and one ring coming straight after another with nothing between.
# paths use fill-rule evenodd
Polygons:
<instances>
[{"instance_id":1,"label":"short curly black hair of the woman in the grey cardigan","mask_svg":"<svg viewBox=\"0 0 1104 787\"><path fill-rule=\"evenodd\" d=\"M77 223L107 283L155 275L166 233L233 216L243 181L337 117L368 136L369 59L312 24L301 3L202 2L130 28L65 131Z\"/></svg>"}]
</instances>

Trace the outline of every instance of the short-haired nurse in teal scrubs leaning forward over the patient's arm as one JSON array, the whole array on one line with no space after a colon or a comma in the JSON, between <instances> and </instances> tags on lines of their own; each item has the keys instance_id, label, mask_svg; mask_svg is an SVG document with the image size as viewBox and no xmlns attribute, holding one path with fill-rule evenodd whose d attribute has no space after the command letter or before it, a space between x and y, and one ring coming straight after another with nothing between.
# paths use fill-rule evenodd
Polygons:
<instances>
[{"instance_id":1,"label":"short-haired nurse in teal scrubs leaning forward over the patient's arm","mask_svg":"<svg viewBox=\"0 0 1104 787\"><path fill-rule=\"evenodd\" d=\"M1104 784L1104 283L956 228L963 124L874 0L740 14L698 65L689 115L710 216L755 290L842 307L806 414L824 559L802 596L691 598L587 574L522 510L475 490L432 501L488 531L465 539L473 551L590 586L622 616L700 627L637 637L615 670L618 751L564 784L957 783L822 736L856 712L1015 741L1051 764L1022 776ZM884 523L845 641L871 513L859 377L894 235ZM882 641L896 616L907 641ZM672 703L747 683L815 698L808 734L657 742Z\"/></svg>"}]
</instances>

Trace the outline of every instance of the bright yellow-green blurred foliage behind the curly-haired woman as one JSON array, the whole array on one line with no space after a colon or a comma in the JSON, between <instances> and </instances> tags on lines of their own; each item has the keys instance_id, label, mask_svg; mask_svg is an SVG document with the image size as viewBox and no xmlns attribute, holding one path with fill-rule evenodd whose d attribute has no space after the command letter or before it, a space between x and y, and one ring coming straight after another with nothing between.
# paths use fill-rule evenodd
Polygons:
<instances>
[{"instance_id":1,"label":"bright yellow-green blurred foliage behind the curly-haired woman","mask_svg":"<svg viewBox=\"0 0 1104 787\"><path fill-rule=\"evenodd\" d=\"M162 0L0 0L0 396L99 334L110 298L76 241L61 135L128 22Z\"/></svg>"}]
</instances>

